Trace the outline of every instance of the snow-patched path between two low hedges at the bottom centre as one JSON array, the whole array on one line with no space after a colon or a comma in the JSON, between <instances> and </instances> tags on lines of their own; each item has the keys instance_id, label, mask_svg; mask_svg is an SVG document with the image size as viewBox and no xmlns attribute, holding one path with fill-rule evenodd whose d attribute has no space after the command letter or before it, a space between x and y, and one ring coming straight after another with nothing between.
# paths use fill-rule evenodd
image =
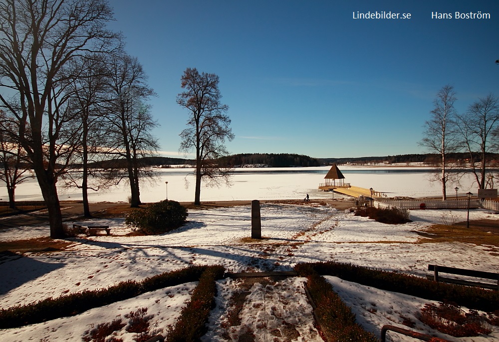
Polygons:
<instances>
[{"instance_id":1,"label":"snow-patched path between two low hedges at the bottom centre","mask_svg":"<svg viewBox=\"0 0 499 342\"><path fill-rule=\"evenodd\" d=\"M322 341L294 271L228 273L203 341Z\"/></svg>"}]
</instances>

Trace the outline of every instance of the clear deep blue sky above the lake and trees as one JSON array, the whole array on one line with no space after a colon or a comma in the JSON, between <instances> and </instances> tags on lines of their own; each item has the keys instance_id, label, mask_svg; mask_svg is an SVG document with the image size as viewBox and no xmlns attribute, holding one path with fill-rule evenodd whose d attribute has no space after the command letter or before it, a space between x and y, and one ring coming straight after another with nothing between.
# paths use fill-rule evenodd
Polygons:
<instances>
[{"instance_id":1,"label":"clear deep blue sky above the lake and trees","mask_svg":"<svg viewBox=\"0 0 499 342\"><path fill-rule=\"evenodd\" d=\"M425 153L435 94L459 112L499 96L499 1L110 0L157 97L162 155L177 157L188 112L176 104L187 67L220 76L235 153L316 158ZM353 12L411 13L354 19ZM432 12L491 19L432 19ZM183 157L183 155L181 155Z\"/></svg>"}]
</instances>

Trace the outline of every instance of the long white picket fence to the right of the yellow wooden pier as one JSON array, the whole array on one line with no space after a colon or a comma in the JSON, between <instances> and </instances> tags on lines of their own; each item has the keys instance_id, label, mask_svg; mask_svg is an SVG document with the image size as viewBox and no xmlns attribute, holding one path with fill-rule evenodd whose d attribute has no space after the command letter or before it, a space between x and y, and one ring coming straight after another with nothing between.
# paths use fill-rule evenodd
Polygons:
<instances>
[{"instance_id":1,"label":"long white picket fence to the right of the yellow wooden pier","mask_svg":"<svg viewBox=\"0 0 499 342\"><path fill-rule=\"evenodd\" d=\"M485 206L480 199L472 198L470 199L470 208L499 210L499 202L485 202L491 203L487 203ZM445 201L441 199L380 199L373 201L373 206L377 208L422 209L422 204L424 204L425 209L467 209L468 199L447 199Z\"/></svg>"}]
</instances>

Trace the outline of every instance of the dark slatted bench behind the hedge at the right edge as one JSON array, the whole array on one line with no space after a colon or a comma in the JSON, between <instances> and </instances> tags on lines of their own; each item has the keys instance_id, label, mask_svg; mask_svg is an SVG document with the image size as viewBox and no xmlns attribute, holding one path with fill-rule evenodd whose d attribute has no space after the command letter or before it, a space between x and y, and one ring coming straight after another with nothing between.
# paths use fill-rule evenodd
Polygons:
<instances>
[{"instance_id":1,"label":"dark slatted bench behind the hedge at the right edge","mask_svg":"<svg viewBox=\"0 0 499 342\"><path fill-rule=\"evenodd\" d=\"M499 291L499 273L474 271L474 270L467 270L464 268L446 267L446 266L438 266L438 265L428 265L428 271L433 271L433 276L427 275L426 278L433 279L436 282L442 281L444 283L453 283L453 284L466 285L466 286L476 286L476 287L482 287L484 289L491 289L491 290ZM475 278L492 279L492 280L496 280L497 284L487 284L487 283L480 283L480 282L472 282L472 281L468 281L468 280L440 277L439 272L449 273L449 274L457 274L460 276L468 276L468 277L475 277Z\"/></svg>"}]
</instances>

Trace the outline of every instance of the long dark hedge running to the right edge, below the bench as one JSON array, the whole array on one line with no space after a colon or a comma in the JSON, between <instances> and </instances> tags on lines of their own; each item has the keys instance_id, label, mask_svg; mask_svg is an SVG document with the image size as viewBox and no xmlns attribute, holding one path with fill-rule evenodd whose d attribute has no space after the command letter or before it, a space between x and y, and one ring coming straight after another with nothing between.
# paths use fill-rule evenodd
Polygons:
<instances>
[{"instance_id":1,"label":"long dark hedge running to the right edge, below the bench","mask_svg":"<svg viewBox=\"0 0 499 342\"><path fill-rule=\"evenodd\" d=\"M372 286L380 290L404 293L433 301L454 302L468 309L493 312L499 308L499 292L477 287L434 282L408 274L370 269L337 262L298 264L295 271L301 276L328 275L343 280Z\"/></svg>"}]
</instances>

